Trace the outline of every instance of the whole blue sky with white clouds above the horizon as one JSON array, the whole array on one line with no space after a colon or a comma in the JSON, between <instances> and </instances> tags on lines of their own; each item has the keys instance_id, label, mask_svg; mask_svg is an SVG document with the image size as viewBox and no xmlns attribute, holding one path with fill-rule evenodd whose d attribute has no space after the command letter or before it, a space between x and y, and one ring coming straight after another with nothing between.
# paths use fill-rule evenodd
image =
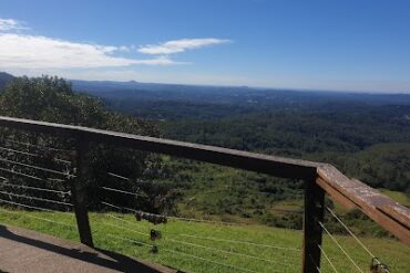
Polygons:
<instances>
[{"instance_id":1,"label":"whole blue sky with white clouds above the horizon","mask_svg":"<svg viewBox=\"0 0 410 273\"><path fill-rule=\"evenodd\" d=\"M0 1L0 71L410 93L410 1Z\"/></svg>"}]
</instances>

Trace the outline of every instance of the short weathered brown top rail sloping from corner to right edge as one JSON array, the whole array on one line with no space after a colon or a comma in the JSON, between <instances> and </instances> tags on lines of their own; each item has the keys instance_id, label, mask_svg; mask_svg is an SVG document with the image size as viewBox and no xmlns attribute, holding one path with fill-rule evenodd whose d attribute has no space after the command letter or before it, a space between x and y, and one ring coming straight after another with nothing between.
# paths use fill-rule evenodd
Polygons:
<instances>
[{"instance_id":1,"label":"short weathered brown top rail sloping from corner to right edge","mask_svg":"<svg viewBox=\"0 0 410 273\"><path fill-rule=\"evenodd\" d=\"M410 209L359 180L347 178L331 165L318 167L316 182L336 201L349 207L355 204L379 225L410 245Z\"/></svg>"}]
</instances>

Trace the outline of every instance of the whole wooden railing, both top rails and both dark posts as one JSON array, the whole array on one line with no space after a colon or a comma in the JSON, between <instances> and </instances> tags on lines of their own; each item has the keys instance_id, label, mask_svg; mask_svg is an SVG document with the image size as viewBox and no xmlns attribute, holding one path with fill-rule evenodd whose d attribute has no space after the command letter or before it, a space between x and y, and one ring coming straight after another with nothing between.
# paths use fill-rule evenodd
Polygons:
<instances>
[{"instance_id":1,"label":"whole wooden railing, both top rails and both dark posts","mask_svg":"<svg viewBox=\"0 0 410 273\"><path fill-rule=\"evenodd\" d=\"M85 155L91 143L133 148L195 159L305 181L303 272L318 272L325 213L325 193L348 208L357 208L400 241L410 245L410 210L376 189L350 179L334 166L214 146L0 116L0 126L73 138L76 141L78 177L73 179L74 211L81 242L93 246L86 197L82 187L88 170Z\"/></svg>"}]
</instances>

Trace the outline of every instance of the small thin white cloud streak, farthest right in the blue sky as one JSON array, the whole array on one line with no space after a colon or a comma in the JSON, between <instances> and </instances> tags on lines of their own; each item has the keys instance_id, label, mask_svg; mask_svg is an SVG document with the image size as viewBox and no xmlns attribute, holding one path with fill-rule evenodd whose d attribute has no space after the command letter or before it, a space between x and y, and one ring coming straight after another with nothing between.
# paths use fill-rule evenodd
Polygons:
<instances>
[{"instance_id":1,"label":"small thin white cloud streak, farthest right in the blue sky","mask_svg":"<svg viewBox=\"0 0 410 273\"><path fill-rule=\"evenodd\" d=\"M184 52L186 50L199 49L208 45L229 43L226 39L181 39L167 41L161 44L148 44L139 49L140 53L144 54L173 54Z\"/></svg>"}]
</instances>

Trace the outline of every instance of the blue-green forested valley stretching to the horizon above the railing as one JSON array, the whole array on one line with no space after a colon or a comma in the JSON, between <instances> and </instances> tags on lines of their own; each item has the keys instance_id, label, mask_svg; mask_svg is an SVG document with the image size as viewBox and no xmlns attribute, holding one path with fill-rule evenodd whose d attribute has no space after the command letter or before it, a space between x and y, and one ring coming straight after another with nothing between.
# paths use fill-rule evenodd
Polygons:
<instances>
[{"instance_id":1,"label":"blue-green forested valley stretching to the horizon above the railing","mask_svg":"<svg viewBox=\"0 0 410 273\"><path fill-rule=\"evenodd\" d=\"M162 136L337 165L409 191L410 95L73 81Z\"/></svg>"}]
</instances>

